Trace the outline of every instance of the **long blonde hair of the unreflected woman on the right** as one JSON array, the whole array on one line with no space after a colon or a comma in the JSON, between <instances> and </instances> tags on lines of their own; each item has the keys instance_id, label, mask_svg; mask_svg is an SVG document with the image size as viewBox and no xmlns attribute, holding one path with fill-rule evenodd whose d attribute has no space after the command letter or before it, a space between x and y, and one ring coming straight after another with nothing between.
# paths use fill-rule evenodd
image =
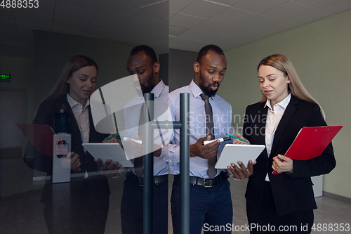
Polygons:
<instances>
[{"instance_id":1,"label":"long blonde hair of the unreflected woman on the right","mask_svg":"<svg viewBox=\"0 0 351 234\"><path fill-rule=\"evenodd\" d=\"M260 69L260 66L262 65L274 67L275 69L283 72L285 76L289 75L291 82L288 84L288 89L293 96L296 96L297 98L300 98L302 100L307 100L307 102L309 103L315 103L319 105L317 100L315 100L310 95L310 93L307 92L307 90L305 89L305 86L303 86L303 83L298 77L298 73L296 72L295 67L293 67L293 63L291 63L289 58L286 58L286 56L283 56L281 54L274 54L272 56L263 58L263 60L260 61L260 64L258 64L257 71ZM267 97L262 93L261 102L264 103L266 100L267 100ZM322 109L322 106L319 105L319 108L321 109L322 115L325 119L325 114L324 114L324 110Z\"/></svg>"}]
</instances>

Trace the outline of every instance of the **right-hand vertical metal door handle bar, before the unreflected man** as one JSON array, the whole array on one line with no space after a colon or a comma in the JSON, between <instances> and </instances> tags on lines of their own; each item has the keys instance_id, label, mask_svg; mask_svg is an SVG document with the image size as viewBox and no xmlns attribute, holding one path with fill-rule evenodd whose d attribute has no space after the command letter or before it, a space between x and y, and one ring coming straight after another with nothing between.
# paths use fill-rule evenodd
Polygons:
<instances>
[{"instance_id":1,"label":"right-hand vertical metal door handle bar, before the unreflected man","mask_svg":"<svg viewBox=\"0 0 351 234\"><path fill-rule=\"evenodd\" d=\"M180 93L180 233L190 233L189 93Z\"/></svg>"}]
</instances>

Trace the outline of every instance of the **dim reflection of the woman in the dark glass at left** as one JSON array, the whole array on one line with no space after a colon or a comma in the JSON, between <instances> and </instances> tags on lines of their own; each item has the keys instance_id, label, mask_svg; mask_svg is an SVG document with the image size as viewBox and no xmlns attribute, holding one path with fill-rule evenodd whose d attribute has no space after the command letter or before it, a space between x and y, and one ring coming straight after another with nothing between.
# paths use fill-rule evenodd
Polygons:
<instances>
[{"instance_id":1,"label":"dim reflection of the woman in the dark glass at left","mask_svg":"<svg viewBox=\"0 0 351 234\"><path fill-rule=\"evenodd\" d=\"M49 233L104 233L109 209L110 188L106 176L114 176L118 162L103 165L85 151L82 143L102 142L107 134L95 131L89 97L95 91L98 65L86 56L68 60L53 90L37 108L34 124L54 126L60 109L69 114L71 134L71 182L53 184L46 181L41 202ZM53 157L34 151L39 170L50 176ZM37 169L37 168L34 168ZM109 170L102 175L99 171Z\"/></svg>"}]
</instances>

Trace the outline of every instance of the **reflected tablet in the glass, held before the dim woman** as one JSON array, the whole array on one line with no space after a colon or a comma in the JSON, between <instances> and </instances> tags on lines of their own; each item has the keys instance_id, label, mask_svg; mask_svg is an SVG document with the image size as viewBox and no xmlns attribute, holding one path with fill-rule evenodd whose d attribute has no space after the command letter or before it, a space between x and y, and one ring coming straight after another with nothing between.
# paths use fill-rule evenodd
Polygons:
<instances>
[{"instance_id":1,"label":"reflected tablet in the glass, held before the dim woman","mask_svg":"<svg viewBox=\"0 0 351 234\"><path fill-rule=\"evenodd\" d=\"M100 158L102 164L106 160L117 161L122 167L134 167L133 162L124 153L119 143L83 143L83 147L88 150L96 159Z\"/></svg>"}]
</instances>

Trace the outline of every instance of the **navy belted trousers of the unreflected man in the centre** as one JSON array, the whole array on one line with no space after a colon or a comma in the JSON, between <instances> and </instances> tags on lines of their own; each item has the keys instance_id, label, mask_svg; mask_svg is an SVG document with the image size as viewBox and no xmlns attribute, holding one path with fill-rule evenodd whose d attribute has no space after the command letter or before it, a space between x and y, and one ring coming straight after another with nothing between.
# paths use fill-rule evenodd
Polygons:
<instances>
[{"instance_id":1,"label":"navy belted trousers of the unreflected man in the centre","mask_svg":"<svg viewBox=\"0 0 351 234\"><path fill-rule=\"evenodd\" d=\"M171 211L173 233L180 234L180 184L178 179L173 181L171 197ZM222 228L227 223L232 225L233 208L230 197L230 183L225 180L217 186L205 188L204 186L190 184L190 234L204 233L231 233Z\"/></svg>"}]
</instances>

